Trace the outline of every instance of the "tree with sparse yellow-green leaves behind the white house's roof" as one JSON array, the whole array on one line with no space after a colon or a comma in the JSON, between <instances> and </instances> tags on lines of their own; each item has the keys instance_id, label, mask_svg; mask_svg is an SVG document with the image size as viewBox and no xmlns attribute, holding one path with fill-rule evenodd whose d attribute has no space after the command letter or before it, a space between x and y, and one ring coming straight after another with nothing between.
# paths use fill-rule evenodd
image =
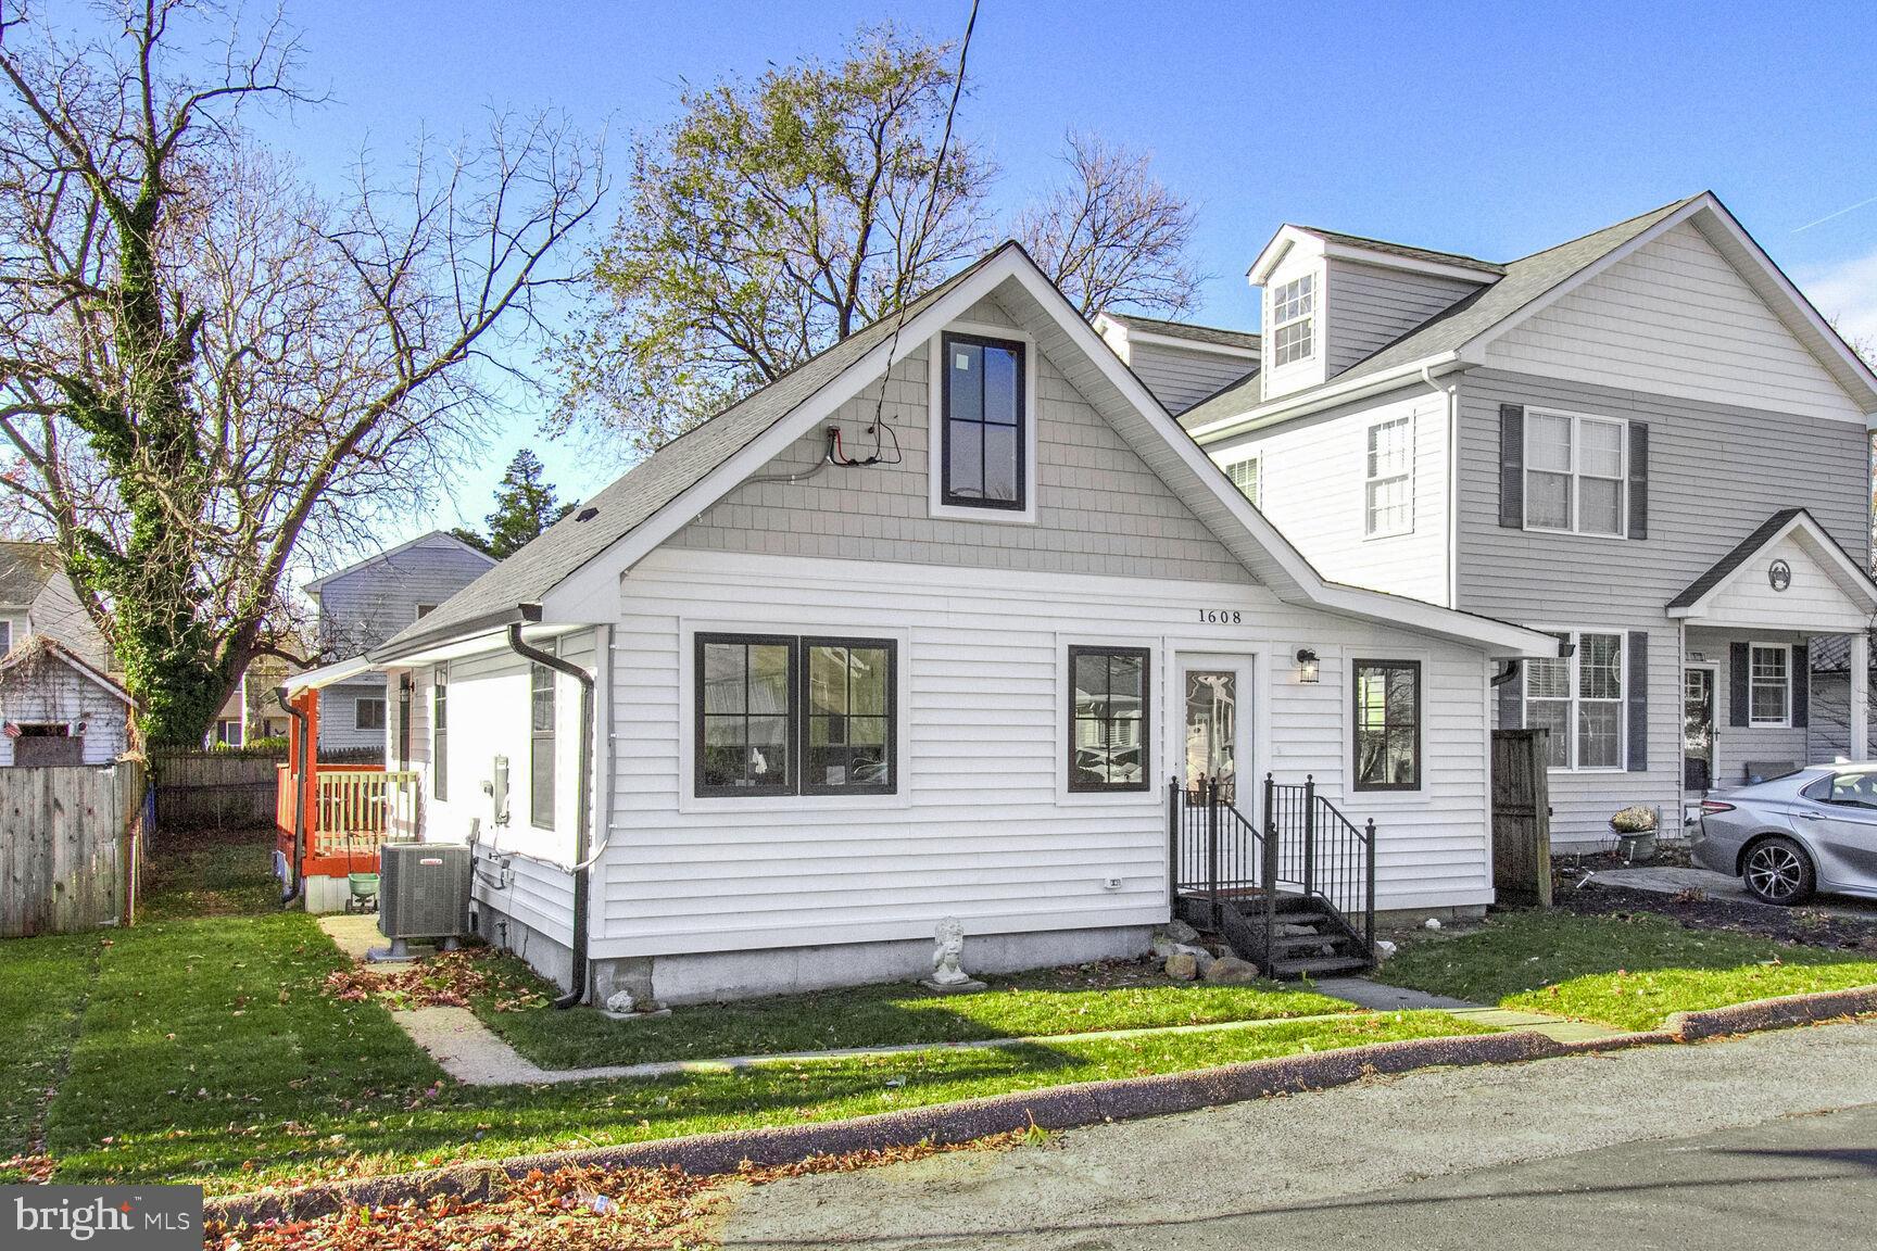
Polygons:
<instances>
[{"instance_id":1,"label":"tree with sparse yellow-green leaves behind the white house's roof","mask_svg":"<svg viewBox=\"0 0 1877 1251\"><path fill-rule=\"evenodd\" d=\"M946 143L957 73L878 28L839 64L687 92L633 150L556 424L655 448L976 255L993 169Z\"/></svg>"}]
</instances>

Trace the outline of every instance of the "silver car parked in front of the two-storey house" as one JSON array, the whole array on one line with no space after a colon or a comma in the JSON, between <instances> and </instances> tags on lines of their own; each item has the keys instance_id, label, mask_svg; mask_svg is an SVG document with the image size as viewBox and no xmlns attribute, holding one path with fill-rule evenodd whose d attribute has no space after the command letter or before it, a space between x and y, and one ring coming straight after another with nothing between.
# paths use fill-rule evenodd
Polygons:
<instances>
[{"instance_id":1,"label":"silver car parked in front of the two-storey house","mask_svg":"<svg viewBox=\"0 0 1877 1251\"><path fill-rule=\"evenodd\" d=\"M1877 763L1813 765L1712 795L1691 848L1768 904L1815 891L1877 898Z\"/></svg>"}]
</instances>

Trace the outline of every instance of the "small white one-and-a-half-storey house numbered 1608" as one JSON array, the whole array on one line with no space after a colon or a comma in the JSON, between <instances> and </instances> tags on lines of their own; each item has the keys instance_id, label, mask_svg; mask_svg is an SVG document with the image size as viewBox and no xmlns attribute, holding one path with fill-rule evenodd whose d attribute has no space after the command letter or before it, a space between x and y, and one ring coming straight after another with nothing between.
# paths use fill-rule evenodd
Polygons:
<instances>
[{"instance_id":1,"label":"small white one-and-a-half-storey house numbered 1608","mask_svg":"<svg viewBox=\"0 0 1877 1251\"><path fill-rule=\"evenodd\" d=\"M1254 823L1308 776L1374 904L1477 910L1488 679L1556 655L1320 576L1004 244L372 658L481 932L687 1002L918 975L944 917L980 972L1141 953L1199 776Z\"/></svg>"}]
</instances>

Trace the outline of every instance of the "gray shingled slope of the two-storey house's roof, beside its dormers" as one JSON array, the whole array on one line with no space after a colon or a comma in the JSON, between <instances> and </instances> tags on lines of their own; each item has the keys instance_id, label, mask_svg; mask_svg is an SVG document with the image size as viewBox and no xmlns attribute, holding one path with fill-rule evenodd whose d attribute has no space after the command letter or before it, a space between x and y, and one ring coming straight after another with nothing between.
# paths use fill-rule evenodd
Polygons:
<instances>
[{"instance_id":1,"label":"gray shingled slope of the two-storey house's roof, beside its dormers","mask_svg":"<svg viewBox=\"0 0 1877 1251\"><path fill-rule=\"evenodd\" d=\"M1701 199L1701 195L1689 195L1687 199L1663 204L1661 208L1646 212L1639 218L1607 225L1601 231L1594 231L1582 238L1573 238L1567 244L1558 244L1556 248L1534 251L1530 257L1511 261L1503 266L1505 272L1496 283L1483 287L1453 308L1428 317L1425 323L1406 332L1393 343L1387 343L1342 373L1327 379L1323 386L1329 386L1331 383L1350 383L1372 373L1393 369L1395 366L1423 360L1427 356L1458 351L1498 323L1541 298L1552 287L1590 268L1609 253L1654 227L1663 218L1676 214L1680 208L1697 199ZM1312 390L1320 388L1305 388L1284 396L1284 399L1297 401L1306 398ZM1256 407L1258 388L1239 384L1186 409L1181 413L1181 422L1192 430L1222 418L1241 416Z\"/></svg>"}]
</instances>

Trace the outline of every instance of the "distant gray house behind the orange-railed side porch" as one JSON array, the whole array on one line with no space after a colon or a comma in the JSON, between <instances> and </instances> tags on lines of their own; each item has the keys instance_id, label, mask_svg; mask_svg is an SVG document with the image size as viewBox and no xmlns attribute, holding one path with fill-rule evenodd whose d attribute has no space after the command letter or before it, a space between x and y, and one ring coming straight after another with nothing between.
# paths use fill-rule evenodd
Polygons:
<instances>
[{"instance_id":1,"label":"distant gray house behind the orange-railed side porch","mask_svg":"<svg viewBox=\"0 0 1877 1251\"><path fill-rule=\"evenodd\" d=\"M319 645L359 656L424 617L496 566L496 559L443 531L430 531L306 583L319 606ZM385 675L362 673L321 700L321 750L385 748ZM392 743L398 756L402 743Z\"/></svg>"}]
</instances>

